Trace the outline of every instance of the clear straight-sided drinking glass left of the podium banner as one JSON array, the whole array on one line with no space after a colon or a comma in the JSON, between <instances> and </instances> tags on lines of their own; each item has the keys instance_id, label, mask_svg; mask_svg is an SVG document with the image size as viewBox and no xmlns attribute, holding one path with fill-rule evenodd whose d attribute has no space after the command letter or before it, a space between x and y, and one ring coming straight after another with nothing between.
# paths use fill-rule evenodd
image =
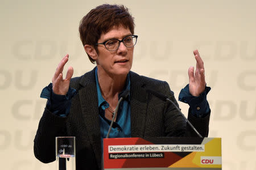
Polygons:
<instances>
[{"instance_id":1,"label":"clear straight-sided drinking glass left of the podium banner","mask_svg":"<svg viewBox=\"0 0 256 170\"><path fill-rule=\"evenodd\" d=\"M76 170L75 143L75 137L56 137L56 170Z\"/></svg>"}]
</instances>

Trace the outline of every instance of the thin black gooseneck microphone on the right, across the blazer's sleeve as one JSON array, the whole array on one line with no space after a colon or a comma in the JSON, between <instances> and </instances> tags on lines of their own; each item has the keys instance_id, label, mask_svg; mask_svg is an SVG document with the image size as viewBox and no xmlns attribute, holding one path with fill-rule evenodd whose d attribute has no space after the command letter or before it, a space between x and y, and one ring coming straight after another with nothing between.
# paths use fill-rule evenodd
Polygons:
<instances>
[{"instance_id":1,"label":"thin black gooseneck microphone on the right, across the blazer's sleeve","mask_svg":"<svg viewBox=\"0 0 256 170\"><path fill-rule=\"evenodd\" d=\"M169 101L170 103L172 103L172 105L174 105L174 107L176 108L176 110L184 117L185 121L188 123L188 125L196 132L196 134L200 137L203 138L202 135L196 130L196 128L191 124L191 122L189 122L189 120L187 119L187 117L184 116L184 114L180 111L180 108L177 107L177 105L170 100L167 96L160 94L159 92L156 91L152 91L147 89L147 92L149 92L150 94L158 97L159 99L163 100L163 101Z\"/></svg>"}]
</instances>

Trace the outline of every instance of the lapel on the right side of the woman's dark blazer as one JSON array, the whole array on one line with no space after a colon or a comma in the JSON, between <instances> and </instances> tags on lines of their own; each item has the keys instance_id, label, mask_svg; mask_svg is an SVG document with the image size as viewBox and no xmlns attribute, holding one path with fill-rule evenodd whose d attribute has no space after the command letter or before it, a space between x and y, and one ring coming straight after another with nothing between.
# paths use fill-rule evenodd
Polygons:
<instances>
[{"instance_id":1,"label":"lapel on the right side of the woman's dark blazer","mask_svg":"<svg viewBox=\"0 0 256 170\"><path fill-rule=\"evenodd\" d=\"M141 76L130 71L131 137L143 137L147 116L147 92Z\"/></svg>"}]
</instances>

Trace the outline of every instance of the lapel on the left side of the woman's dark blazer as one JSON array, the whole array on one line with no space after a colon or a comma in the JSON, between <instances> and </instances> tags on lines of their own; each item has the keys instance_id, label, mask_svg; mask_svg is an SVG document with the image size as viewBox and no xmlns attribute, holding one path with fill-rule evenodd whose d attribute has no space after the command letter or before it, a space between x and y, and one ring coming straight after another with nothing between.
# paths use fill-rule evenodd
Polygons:
<instances>
[{"instance_id":1,"label":"lapel on the left side of the woman's dark blazer","mask_svg":"<svg viewBox=\"0 0 256 170\"><path fill-rule=\"evenodd\" d=\"M82 76L79 90L82 119L88 133L97 160L101 160L101 132L100 118L98 113L97 87L95 80L95 68ZM98 162L101 167L101 162Z\"/></svg>"}]
</instances>

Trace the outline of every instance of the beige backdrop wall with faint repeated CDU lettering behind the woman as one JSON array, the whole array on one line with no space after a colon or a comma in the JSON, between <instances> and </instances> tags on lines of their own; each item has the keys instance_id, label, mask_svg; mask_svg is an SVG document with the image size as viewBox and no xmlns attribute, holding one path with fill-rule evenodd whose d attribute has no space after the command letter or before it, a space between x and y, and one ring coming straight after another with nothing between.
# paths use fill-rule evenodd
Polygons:
<instances>
[{"instance_id":1,"label":"beige backdrop wall with faint repeated CDU lettering behind the woman","mask_svg":"<svg viewBox=\"0 0 256 170\"><path fill-rule=\"evenodd\" d=\"M209 137L222 138L223 169L256 169L256 2L246 1L5 1L0 2L1 169L55 169L33 154L33 139L57 63L69 54L75 76L91 70L79 22L102 3L124 4L135 17L132 70L166 80L175 96L205 62L212 90ZM181 104L187 114L187 104Z\"/></svg>"}]
</instances>

